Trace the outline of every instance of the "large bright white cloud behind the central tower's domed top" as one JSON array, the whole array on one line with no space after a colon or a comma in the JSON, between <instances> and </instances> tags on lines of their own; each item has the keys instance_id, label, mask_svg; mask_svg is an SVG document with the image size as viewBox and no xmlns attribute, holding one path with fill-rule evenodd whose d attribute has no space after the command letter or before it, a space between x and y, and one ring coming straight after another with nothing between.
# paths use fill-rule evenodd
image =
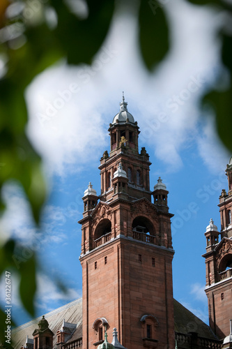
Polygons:
<instances>
[{"instance_id":1,"label":"large bright white cloud behind the central tower's domed top","mask_svg":"<svg viewBox=\"0 0 232 349\"><path fill-rule=\"evenodd\" d=\"M68 170L82 170L98 161L109 144L107 125L118 112L122 91L144 132L141 140L169 168L181 167L180 151L196 137L199 127L196 103L219 69L215 28L220 17L180 0L169 1L167 13L172 45L155 74L149 75L141 64L137 25L126 14L114 20L91 67L68 67L61 62L33 81L27 91L28 133L47 168L64 176ZM154 123L160 113L167 114L167 121L157 127ZM217 153L224 153L216 145L215 130L210 142ZM200 155L210 165L214 156L208 152L208 138L198 136L198 143Z\"/></svg>"}]
</instances>

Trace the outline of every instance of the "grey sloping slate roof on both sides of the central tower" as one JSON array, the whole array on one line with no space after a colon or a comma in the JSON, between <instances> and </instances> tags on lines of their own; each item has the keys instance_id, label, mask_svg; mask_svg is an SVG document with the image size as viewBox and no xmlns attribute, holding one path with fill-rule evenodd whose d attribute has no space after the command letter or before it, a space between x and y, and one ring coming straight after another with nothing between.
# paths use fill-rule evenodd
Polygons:
<instances>
[{"instance_id":1,"label":"grey sloping slate roof on both sides of the central tower","mask_svg":"<svg viewBox=\"0 0 232 349\"><path fill-rule=\"evenodd\" d=\"M187 334L189 332L197 332L199 336L208 339L217 339L215 334L208 325L206 325L202 320L197 318L191 311L187 310L185 306L180 304L173 299L174 302L174 321L175 321L175 331ZM12 339L14 341L13 347L15 349L20 349L24 346L26 341L26 335L29 339L32 339L33 331L38 328L38 321L41 317L26 322L26 324L16 327L12 331ZM54 311L50 311L45 314L45 319L49 323L49 329L54 332L54 347L56 346L56 332L61 329L63 324L63 319L65 322L71 322L77 324L77 329L72 335L68 342L75 341L82 337L82 298L76 299L73 302L65 304ZM67 342L67 343L68 343Z\"/></svg>"}]
</instances>

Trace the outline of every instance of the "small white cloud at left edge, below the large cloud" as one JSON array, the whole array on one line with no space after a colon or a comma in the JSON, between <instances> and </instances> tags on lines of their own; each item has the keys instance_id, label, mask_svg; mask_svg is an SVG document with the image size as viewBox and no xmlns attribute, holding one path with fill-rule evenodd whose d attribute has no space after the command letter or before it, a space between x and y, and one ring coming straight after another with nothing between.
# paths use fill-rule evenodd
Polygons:
<instances>
[{"instance_id":1,"label":"small white cloud at left edge, below the large cloud","mask_svg":"<svg viewBox=\"0 0 232 349\"><path fill-rule=\"evenodd\" d=\"M3 200L7 208L0 220L0 228L4 232L4 235L1 234L2 241L14 237L33 251L41 251L51 242L59 244L67 241L65 223L77 215L77 209L45 206L40 221L41 228L38 229L20 186L13 183L4 186Z\"/></svg>"}]
</instances>

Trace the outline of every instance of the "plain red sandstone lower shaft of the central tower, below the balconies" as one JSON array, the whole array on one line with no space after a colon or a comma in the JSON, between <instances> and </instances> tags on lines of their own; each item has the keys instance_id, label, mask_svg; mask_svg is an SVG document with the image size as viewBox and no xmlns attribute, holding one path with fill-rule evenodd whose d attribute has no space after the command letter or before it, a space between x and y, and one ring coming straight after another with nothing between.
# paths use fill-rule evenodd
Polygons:
<instances>
[{"instance_id":1,"label":"plain red sandstone lower shaft of the central tower, below the balconies","mask_svg":"<svg viewBox=\"0 0 232 349\"><path fill-rule=\"evenodd\" d=\"M164 248L116 239L82 259L84 349L93 348L98 341L92 326L102 317L109 323L109 342L116 327L123 346L141 348L144 327L140 319L147 314L155 315L159 322L153 334L158 347L173 348L172 257Z\"/></svg>"}]
</instances>

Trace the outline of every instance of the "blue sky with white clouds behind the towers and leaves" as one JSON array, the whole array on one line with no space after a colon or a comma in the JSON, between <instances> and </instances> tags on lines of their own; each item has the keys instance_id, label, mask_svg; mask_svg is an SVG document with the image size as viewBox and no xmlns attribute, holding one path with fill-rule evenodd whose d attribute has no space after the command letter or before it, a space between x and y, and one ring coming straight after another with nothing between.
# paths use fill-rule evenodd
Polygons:
<instances>
[{"instance_id":1,"label":"blue sky with white clouds behind the towers and leaves","mask_svg":"<svg viewBox=\"0 0 232 349\"><path fill-rule=\"evenodd\" d=\"M139 147L150 155L150 189L162 177L169 190L172 218L173 295L208 321L203 288L206 225L220 228L217 204L230 154L215 131L213 111L200 110L201 94L222 70L215 29L220 14L208 8L168 3L173 38L163 63L149 75L137 49L137 25L130 14L116 17L91 67L67 67L65 60L38 76L26 91L27 133L42 156L48 198L42 230L31 222L24 194L15 184L4 188L8 211L1 227L37 251L37 315L82 296L82 196L91 181L100 194L98 165L108 149L109 123L119 110L122 91L140 127ZM63 281L63 295L55 279ZM20 308L13 279L13 315L18 325L30 320Z\"/></svg>"}]
</instances>

